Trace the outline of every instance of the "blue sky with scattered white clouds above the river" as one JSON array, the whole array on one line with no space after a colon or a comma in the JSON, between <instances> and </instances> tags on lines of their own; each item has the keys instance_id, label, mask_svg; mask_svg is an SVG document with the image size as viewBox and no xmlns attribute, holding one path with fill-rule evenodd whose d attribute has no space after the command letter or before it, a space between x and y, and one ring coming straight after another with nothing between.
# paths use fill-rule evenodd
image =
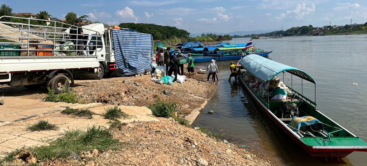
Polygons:
<instances>
[{"instance_id":1,"label":"blue sky with scattered white clouds above the river","mask_svg":"<svg viewBox=\"0 0 367 166\"><path fill-rule=\"evenodd\" d=\"M64 19L68 12L109 25L121 22L175 26L190 33L289 29L367 22L366 0L0 0L14 13Z\"/></svg>"}]
</instances>

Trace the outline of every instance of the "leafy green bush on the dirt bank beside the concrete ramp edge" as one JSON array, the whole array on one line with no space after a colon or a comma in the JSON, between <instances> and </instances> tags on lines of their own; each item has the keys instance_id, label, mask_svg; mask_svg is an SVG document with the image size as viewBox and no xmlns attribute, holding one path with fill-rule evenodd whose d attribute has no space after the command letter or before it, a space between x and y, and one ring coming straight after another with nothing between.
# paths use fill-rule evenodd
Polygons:
<instances>
[{"instance_id":1,"label":"leafy green bush on the dirt bank beside the concrete ramp edge","mask_svg":"<svg viewBox=\"0 0 367 166\"><path fill-rule=\"evenodd\" d=\"M174 117L176 107L176 103L163 102L159 97L157 97L155 104L148 106L154 116L163 118Z\"/></svg>"}]
</instances>

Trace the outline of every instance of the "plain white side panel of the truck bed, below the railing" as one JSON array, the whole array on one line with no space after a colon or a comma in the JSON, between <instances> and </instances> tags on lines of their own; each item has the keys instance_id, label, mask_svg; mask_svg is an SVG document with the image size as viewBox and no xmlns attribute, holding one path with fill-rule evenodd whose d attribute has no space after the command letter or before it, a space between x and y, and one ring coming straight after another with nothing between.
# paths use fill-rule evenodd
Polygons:
<instances>
[{"instance_id":1,"label":"plain white side panel of the truck bed, below the railing","mask_svg":"<svg viewBox=\"0 0 367 166\"><path fill-rule=\"evenodd\" d=\"M0 56L0 73L98 67L98 56Z\"/></svg>"}]
</instances>

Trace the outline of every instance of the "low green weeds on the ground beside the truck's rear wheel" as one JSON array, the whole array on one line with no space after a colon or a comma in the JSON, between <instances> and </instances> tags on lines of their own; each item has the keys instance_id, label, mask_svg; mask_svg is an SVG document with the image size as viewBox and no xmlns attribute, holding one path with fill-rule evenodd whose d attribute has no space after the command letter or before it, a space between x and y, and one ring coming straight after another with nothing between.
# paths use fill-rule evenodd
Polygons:
<instances>
[{"instance_id":1,"label":"low green weeds on the ground beside the truck's rear wheel","mask_svg":"<svg viewBox=\"0 0 367 166\"><path fill-rule=\"evenodd\" d=\"M62 92L60 94L55 94L55 91L47 88L47 96L44 101L46 102L65 102L65 103L77 103L79 101L78 95L72 92Z\"/></svg>"}]
</instances>

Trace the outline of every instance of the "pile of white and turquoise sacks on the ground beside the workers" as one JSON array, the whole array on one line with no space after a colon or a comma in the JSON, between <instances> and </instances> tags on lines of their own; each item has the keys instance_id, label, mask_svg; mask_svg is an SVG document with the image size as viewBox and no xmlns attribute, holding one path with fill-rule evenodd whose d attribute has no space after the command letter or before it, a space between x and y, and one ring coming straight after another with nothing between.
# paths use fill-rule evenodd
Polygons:
<instances>
[{"instance_id":1,"label":"pile of white and turquoise sacks on the ground beside the workers","mask_svg":"<svg viewBox=\"0 0 367 166\"><path fill-rule=\"evenodd\" d=\"M167 75L166 70L159 70L156 69L154 71L154 73L152 74L152 79L150 79L150 81L153 81L157 84L167 84L167 85L172 85L173 84L173 80L174 80L175 76L174 75ZM186 80L186 76L185 75L177 75L177 82L183 84L183 82L185 82Z\"/></svg>"}]
</instances>

